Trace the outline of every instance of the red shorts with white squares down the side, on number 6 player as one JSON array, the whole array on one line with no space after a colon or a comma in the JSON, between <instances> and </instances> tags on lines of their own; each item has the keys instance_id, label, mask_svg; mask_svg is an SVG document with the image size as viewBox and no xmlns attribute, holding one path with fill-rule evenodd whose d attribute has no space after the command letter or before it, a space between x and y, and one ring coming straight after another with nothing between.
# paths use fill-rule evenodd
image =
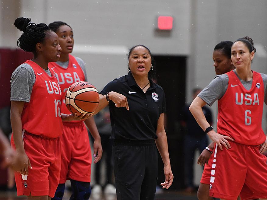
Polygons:
<instances>
[{"instance_id":1,"label":"red shorts with white squares down the side, on number 6 player","mask_svg":"<svg viewBox=\"0 0 267 200\"><path fill-rule=\"evenodd\" d=\"M229 141L229 140L228 140ZM214 148L211 197L236 200L267 198L267 158L260 147L229 141L231 149Z\"/></svg>"}]
</instances>

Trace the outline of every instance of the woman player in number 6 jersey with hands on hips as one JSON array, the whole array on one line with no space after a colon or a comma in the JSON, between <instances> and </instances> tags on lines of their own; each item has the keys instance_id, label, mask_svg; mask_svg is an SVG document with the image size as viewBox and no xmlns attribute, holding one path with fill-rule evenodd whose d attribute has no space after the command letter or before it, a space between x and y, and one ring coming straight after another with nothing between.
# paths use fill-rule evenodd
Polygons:
<instances>
[{"instance_id":1,"label":"woman player in number 6 jersey with hands on hips","mask_svg":"<svg viewBox=\"0 0 267 200\"><path fill-rule=\"evenodd\" d=\"M263 104L267 104L267 75L251 70L256 49L250 37L231 47L236 69L218 75L193 100L189 110L216 143L213 149L209 195L236 200L267 199L267 139L262 130ZM218 100L217 132L202 107Z\"/></svg>"}]
</instances>

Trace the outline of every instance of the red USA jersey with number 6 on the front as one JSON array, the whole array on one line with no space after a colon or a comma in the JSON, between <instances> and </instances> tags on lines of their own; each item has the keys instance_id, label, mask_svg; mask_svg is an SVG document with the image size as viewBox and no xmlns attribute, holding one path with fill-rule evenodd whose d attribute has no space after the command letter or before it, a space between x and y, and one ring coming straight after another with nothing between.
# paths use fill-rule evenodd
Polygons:
<instances>
[{"instance_id":1,"label":"red USA jersey with number 6 on the front","mask_svg":"<svg viewBox=\"0 0 267 200\"><path fill-rule=\"evenodd\" d=\"M218 133L234 138L237 143L262 144L266 139L262 130L262 76L254 71L251 89L247 90L233 71L227 72L227 75L227 90L218 100Z\"/></svg>"}]
</instances>

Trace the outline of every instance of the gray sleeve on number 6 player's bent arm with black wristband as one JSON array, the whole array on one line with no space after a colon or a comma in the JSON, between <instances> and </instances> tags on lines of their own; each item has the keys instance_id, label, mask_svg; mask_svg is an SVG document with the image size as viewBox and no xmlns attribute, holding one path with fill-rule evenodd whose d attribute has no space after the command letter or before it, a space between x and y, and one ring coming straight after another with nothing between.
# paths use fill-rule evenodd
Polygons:
<instances>
[{"instance_id":1,"label":"gray sleeve on number 6 player's bent arm with black wristband","mask_svg":"<svg viewBox=\"0 0 267 200\"><path fill-rule=\"evenodd\" d=\"M203 101L209 106L223 97L228 87L229 78L226 74L216 76L199 94Z\"/></svg>"}]
</instances>

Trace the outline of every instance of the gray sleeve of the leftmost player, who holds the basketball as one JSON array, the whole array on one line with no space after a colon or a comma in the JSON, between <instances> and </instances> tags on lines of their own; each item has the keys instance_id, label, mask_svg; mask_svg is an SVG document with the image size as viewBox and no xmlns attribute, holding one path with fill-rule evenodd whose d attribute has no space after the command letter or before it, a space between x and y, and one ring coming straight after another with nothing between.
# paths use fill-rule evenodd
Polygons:
<instances>
[{"instance_id":1,"label":"gray sleeve of the leftmost player, who holds the basketball","mask_svg":"<svg viewBox=\"0 0 267 200\"><path fill-rule=\"evenodd\" d=\"M12 73L10 81L10 100L30 102L30 96L35 82L33 68L23 63Z\"/></svg>"}]
</instances>

